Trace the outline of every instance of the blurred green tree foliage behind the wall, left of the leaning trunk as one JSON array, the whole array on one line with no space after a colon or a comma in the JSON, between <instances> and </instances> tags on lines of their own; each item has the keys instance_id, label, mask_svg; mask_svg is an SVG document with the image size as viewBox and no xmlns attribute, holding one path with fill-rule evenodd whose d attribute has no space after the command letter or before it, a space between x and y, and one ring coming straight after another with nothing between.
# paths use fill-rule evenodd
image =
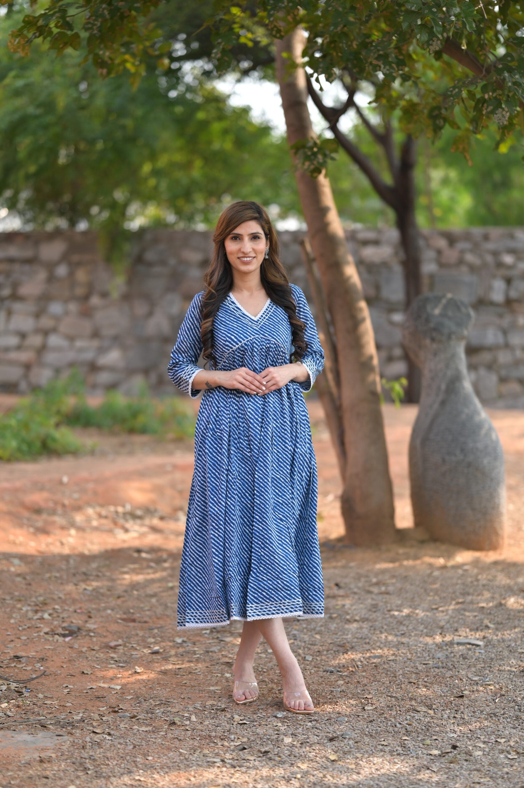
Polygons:
<instances>
[{"instance_id":1,"label":"blurred green tree foliage behind the wall, left of the leaning trunk","mask_svg":"<svg viewBox=\"0 0 524 788\"><path fill-rule=\"evenodd\" d=\"M211 225L230 199L278 195L282 215L296 209L285 140L229 106L197 65L149 69L133 90L124 74L99 80L81 54L57 59L35 42L30 58L0 50L0 103L1 203L28 228L102 231L117 262L122 228Z\"/></svg>"}]
</instances>

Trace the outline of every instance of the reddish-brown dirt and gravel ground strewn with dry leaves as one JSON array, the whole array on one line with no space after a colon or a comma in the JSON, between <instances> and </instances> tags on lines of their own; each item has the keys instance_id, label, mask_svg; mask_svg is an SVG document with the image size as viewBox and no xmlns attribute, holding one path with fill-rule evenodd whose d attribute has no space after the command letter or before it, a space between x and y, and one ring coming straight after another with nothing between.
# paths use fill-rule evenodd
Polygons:
<instances>
[{"instance_id":1,"label":"reddish-brown dirt and gravel ground strewn with dry leaves","mask_svg":"<svg viewBox=\"0 0 524 788\"><path fill-rule=\"evenodd\" d=\"M178 632L192 444L103 437L94 455L0 466L0 788L524 786L524 414L492 411L507 458L500 552L411 538L341 547L317 402L324 619L288 619L317 712L232 703L240 623ZM397 524L411 525L414 407L385 407ZM477 645L461 643L470 639Z\"/></svg>"}]
</instances>

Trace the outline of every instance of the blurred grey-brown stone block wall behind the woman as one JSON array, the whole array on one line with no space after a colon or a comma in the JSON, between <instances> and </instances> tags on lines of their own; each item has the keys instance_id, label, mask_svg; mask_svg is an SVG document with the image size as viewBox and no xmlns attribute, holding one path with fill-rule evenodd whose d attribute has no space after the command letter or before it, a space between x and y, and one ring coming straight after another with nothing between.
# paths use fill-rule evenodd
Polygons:
<instances>
[{"instance_id":1,"label":"blurred grey-brown stone block wall behind the woman","mask_svg":"<svg viewBox=\"0 0 524 788\"><path fill-rule=\"evenodd\" d=\"M291 281L307 292L299 232L282 232ZM400 343L403 273L395 230L357 230L359 265L381 374L406 373ZM481 400L524 407L524 229L423 233L425 290L451 292L476 314L468 344ZM78 366L91 392L172 392L165 368L191 298L202 289L209 232L137 236L125 281L114 277L88 232L0 234L0 391L26 392ZM308 292L307 292L307 295Z\"/></svg>"}]
</instances>

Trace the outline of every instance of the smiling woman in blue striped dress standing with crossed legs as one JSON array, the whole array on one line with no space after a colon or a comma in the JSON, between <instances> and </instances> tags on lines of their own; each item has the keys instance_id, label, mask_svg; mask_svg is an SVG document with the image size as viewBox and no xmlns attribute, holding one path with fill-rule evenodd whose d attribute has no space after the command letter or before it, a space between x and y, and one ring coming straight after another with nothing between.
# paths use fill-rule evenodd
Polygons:
<instances>
[{"instance_id":1,"label":"smiling woman in blue striped dress standing with crossed legs","mask_svg":"<svg viewBox=\"0 0 524 788\"><path fill-rule=\"evenodd\" d=\"M302 395L321 372L324 353L278 251L262 206L226 208L206 290L191 301L171 354L173 383L192 397L204 392L178 628L243 621L233 699L257 699L253 661L264 637L281 670L285 708L311 714L282 619L324 615L317 466ZM209 370L196 364L201 353Z\"/></svg>"}]
</instances>

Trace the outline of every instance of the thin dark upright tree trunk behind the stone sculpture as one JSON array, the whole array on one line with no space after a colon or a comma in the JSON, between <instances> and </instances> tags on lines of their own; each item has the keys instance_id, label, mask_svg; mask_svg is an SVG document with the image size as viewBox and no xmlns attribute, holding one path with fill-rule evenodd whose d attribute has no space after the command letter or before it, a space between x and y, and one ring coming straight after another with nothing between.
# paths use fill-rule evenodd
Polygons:
<instances>
[{"instance_id":1,"label":"thin dark upright tree trunk behind the stone sculpture","mask_svg":"<svg viewBox=\"0 0 524 788\"><path fill-rule=\"evenodd\" d=\"M402 146L399 172L396 177L396 191L398 195L396 225L400 232L400 240L404 252L406 311L414 299L422 292L420 236L415 214L414 167L416 161L415 142L413 137L408 135ZM420 370L409 355L407 355L407 369L407 400L408 402L418 402L421 386Z\"/></svg>"}]
</instances>

